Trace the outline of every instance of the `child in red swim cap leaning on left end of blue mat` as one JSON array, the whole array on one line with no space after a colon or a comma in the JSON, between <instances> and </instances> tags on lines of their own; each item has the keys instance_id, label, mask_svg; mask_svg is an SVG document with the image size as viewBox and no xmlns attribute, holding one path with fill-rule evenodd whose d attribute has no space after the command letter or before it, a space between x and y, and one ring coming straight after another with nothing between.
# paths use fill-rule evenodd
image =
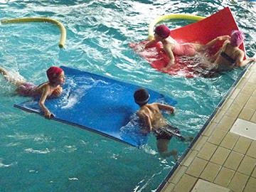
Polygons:
<instances>
[{"instance_id":1,"label":"child in red swim cap leaning on left end of blue mat","mask_svg":"<svg viewBox=\"0 0 256 192\"><path fill-rule=\"evenodd\" d=\"M47 97L58 97L62 93L62 87L60 85L65 84L64 71L61 68L50 67L47 71L48 82L43 82L41 85L34 85L32 82L25 82L16 80L12 75L4 68L0 67L0 73L4 75L4 78L9 82L14 83L17 89L16 92L21 96L40 97L39 106L44 112L44 116L50 119L54 116L44 104Z\"/></svg>"}]
</instances>

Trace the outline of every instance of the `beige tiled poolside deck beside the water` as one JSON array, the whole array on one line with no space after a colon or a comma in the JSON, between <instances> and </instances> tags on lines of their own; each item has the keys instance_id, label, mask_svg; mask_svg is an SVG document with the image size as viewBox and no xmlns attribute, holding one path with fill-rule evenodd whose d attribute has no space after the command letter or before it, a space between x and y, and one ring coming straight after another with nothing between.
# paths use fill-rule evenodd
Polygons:
<instances>
[{"instance_id":1,"label":"beige tiled poolside deck beside the water","mask_svg":"<svg viewBox=\"0 0 256 192\"><path fill-rule=\"evenodd\" d=\"M207 183L208 192L256 191L256 141L230 132L237 119L256 123L255 63L247 69L186 157L176 164L176 171L167 176L161 192L206 192L203 185ZM256 124L252 126L256 129Z\"/></svg>"}]
</instances>

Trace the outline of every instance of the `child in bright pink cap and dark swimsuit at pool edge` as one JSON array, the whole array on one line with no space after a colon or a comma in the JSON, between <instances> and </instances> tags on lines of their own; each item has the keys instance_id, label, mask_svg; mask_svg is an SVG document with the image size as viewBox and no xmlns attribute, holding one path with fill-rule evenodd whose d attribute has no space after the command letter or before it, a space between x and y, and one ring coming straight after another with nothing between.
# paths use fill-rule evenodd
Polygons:
<instances>
[{"instance_id":1,"label":"child in bright pink cap and dark swimsuit at pool edge","mask_svg":"<svg viewBox=\"0 0 256 192\"><path fill-rule=\"evenodd\" d=\"M224 41L223 46L218 50L217 53L212 58L213 69L217 71L232 70L235 67L242 68L243 66L250 63L250 61L255 61L255 58L245 57L245 53L239 48L242 42L245 40L245 35L242 31L232 31L230 38ZM217 43L219 38L213 39L207 45L213 46Z\"/></svg>"}]
</instances>

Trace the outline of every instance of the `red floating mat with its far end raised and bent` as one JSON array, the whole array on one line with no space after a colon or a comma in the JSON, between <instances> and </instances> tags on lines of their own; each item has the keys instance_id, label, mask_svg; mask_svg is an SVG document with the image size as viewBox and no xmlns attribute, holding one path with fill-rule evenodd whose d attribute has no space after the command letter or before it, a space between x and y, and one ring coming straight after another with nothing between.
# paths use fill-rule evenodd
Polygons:
<instances>
[{"instance_id":1,"label":"red floating mat with its far end raised and bent","mask_svg":"<svg viewBox=\"0 0 256 192\"><path fill-rule=\"evenodd\" d=\"M188 26L183 26L181 28L176 28L171 31L171 37L176 39L178 42L186 43L201 43L206 44L218 36L230 35L231 31L238 30L238 25L229 9L226 7L218 11L217 13L204 18L201 21L192 23ZM161 70L167 63L169 63L169 58L164 52L162 43L156 43L154 46L149 48L141 48L146 41L140 43L130 43L129 46L134 48L134 50L145 58L151 65L152 68L162 72L169 73L170 75L182 75L186 78L193 78L195 76L203 76L201 70L196 70L195 59L193 57L184 59L182 56L175 56L174 65L167 71ZM216 43L214 49L210 53L216 53L222 46L222 42ZM242 43L240 46L245 52L245 46Z\"/></svg>"}]
</instances>

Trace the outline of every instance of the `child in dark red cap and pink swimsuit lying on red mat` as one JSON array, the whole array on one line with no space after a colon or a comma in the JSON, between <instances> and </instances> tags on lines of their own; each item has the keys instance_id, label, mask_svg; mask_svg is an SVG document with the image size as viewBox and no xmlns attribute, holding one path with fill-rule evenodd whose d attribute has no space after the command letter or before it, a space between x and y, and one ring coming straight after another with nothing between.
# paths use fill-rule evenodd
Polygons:
<instances>
[{"instance_id":1,"label":"child in dark red cap and pink swimsuit lying on red mat","mask_svg":"<svg viewBox=\"0 0 256 192\"><path fill-rule=\"evenodd\" d=\"M210 44L204 46L199 43L178 43L174 38L171 38L171 30L164 25L156 26L154 30L154 39L145 44L145 47L151 46L151 44L161 41L163 43L164 51L168 55L170 61L162 70L167 70L174 65L174 55L194 56L199 50L210 46ZM219 40L226 40L229 36L220 36Z\"/></svg>"}]
</instances>

